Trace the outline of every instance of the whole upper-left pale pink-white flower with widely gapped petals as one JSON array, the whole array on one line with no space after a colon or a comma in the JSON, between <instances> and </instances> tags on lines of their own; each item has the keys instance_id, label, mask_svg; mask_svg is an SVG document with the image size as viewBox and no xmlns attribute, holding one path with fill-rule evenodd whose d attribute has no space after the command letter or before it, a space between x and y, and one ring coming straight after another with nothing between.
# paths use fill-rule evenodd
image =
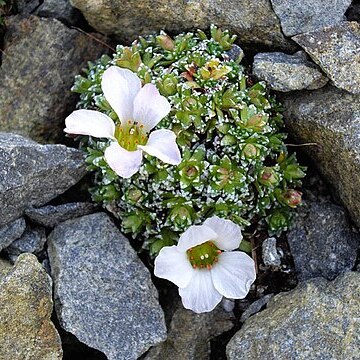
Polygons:
<instances>
[{"instance_id":1,"label":"whole upper-left pale pink-white flower with widely gapped petals","mask_svg":"<svg viewBox=\"0 0 360 360\"><path fill-rule=\"evenodd\" d=\"M143 151L171 165L181 162L172 131L160 129L148 137L171 109L155 85L141 87L140 79L132 71L111 66L103 74L101 88L121 123L115 126L110 117L98 111L76 110L66 118L65 132L111 139L105 160L124 178L139 170Z\"/></svg>"}]
</instances>

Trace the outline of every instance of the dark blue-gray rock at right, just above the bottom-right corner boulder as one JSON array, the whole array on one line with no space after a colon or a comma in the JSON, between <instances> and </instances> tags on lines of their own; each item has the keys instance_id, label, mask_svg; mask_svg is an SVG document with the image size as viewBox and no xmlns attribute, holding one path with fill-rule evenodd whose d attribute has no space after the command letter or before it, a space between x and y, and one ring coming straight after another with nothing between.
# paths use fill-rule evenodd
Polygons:
<instances>
[{"instance_id":1,"label":"dark blue-gray rock at right, just above the bottom-right corner boulder","mask_svg":"<svg viewBox=\"0 0 360 360\"><path fill-rule=\"evenodd\" d=\"M331 203L304 203L287 238L299 280L333 280L351 270L360 246L344 209Z\"/></svg>"}]
</instances>

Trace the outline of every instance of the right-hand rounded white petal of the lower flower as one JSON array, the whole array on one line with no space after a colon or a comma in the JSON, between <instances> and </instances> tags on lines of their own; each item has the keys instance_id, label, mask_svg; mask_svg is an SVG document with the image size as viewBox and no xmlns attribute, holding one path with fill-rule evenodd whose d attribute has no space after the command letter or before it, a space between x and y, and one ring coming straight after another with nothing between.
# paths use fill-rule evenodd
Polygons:
<instances>
[{"instance_id":1,"label":"right-hand rounded white petal of the lower flower","mask_svg":"<svg viewBox=\"0 0 360 360\"><path fill-rule=\"evenodd\" d=\"M230 299L243 299L255 281L254 260L240 251L223 252L210 270L216 290Z\"/></svg>"}]
</instances>

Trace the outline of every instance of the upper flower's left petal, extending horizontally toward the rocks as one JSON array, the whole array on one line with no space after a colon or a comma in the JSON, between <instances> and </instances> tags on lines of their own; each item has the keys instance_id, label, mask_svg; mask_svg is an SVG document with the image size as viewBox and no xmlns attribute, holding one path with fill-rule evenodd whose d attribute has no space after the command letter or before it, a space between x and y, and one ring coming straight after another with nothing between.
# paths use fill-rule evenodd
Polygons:
<instances>
[{"instance_id":1,"label":"upper flower's left petal, extending horizontally toward the rocks","mask_svg":"<svg viewBox=\"0 0 360 360\"><path fill-rule=\"evenodd\" d=\"M114 122L99 111L76 110L65 119L65 126L68 134L114 139Z\"/></svg>"}]
</instances>

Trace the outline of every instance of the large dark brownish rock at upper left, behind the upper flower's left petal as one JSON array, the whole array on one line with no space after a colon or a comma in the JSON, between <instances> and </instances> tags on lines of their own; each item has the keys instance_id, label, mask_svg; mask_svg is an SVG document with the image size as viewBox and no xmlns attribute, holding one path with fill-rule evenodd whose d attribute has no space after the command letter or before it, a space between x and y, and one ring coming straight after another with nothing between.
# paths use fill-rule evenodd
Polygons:
<instances>
[{"instance_id":1,"label":"large dark brownish rock at upper left, behind the upper flower's left petal","mask_svg":"<svg viewBox=\"0 0 360 360\"><path fill-rule=\"evenodd\" d=\"M7 19L0 68L0 131L39 142L64 136L64 119L75 107L74 76L105 48L55 19ZM31 94L31 96L29 95Z\"/></svg>"}]
</instances>

